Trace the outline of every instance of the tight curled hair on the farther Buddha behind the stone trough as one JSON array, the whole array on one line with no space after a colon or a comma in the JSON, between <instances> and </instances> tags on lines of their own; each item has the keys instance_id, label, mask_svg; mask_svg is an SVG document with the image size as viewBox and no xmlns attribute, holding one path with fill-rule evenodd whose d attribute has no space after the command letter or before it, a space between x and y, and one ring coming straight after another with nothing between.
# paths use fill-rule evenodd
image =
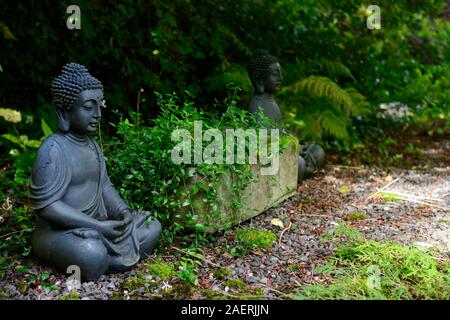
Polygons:
<instances>
[{"instance_id":1,"label":"tight curled hair on the farther Buddha behind the stone trough","mask_svg":"<svg viewBox=\"0 0 450 320\"><path fill-rule=\"evenodd\" d=\"M278 58L271 56L267 50L257 49L248 63L248 75L256 93L264 93L264 79L269 66L279 62Z\"/></svg>"}]
</instances>

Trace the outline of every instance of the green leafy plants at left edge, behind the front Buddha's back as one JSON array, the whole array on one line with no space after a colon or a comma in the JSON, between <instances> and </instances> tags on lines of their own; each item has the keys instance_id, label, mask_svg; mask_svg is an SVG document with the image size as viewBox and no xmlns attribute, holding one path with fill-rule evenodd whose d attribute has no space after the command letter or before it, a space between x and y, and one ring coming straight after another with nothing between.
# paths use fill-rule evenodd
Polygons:
<instances>
[{"instance_id":1,"label":"green leafy plants at left edge, behind the front Buddha's back","mask_svg":"<svg viewBox=\"0 0 450 320\"><path fill-rule=\"evenodd\" d=\"M30 236L35 216L28 207L28 185L31 167L37 148L51 133L41 120L43 135L40 140L20 135L15 126L22 121L21 113L0 109L1 116L9 122L11 132L0 136L0 145L9 150L7 165L0 170L0 278L4 270L13 266L30 252Z\"/></svg>"}]
</instances>

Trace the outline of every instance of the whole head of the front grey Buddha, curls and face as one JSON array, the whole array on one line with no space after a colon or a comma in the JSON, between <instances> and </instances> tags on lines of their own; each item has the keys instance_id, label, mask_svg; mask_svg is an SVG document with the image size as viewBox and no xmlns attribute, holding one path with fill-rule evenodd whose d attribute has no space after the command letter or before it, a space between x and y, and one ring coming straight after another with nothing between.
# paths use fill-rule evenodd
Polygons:
<instances>
[{"instance_id":1,"label":"whole head of the front grey Buddha, curls and face","mask_svg":"<svg viewBox=\"0 0 450 320\"><path fill-rule=\"evenodd\" d=\"M51 92L61 131L84 136L97 129L104 106L103 86L86 67L66 64L53 80Z\"/></svg>"}]
</instances>

